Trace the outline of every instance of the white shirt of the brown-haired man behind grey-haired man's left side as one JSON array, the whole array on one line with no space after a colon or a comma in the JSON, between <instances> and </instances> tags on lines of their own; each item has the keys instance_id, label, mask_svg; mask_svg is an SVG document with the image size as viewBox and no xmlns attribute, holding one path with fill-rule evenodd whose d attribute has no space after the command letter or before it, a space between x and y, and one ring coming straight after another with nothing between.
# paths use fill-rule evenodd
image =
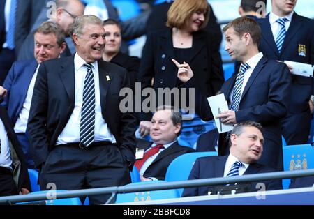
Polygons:
<instances>
[{"instance_id":1,"label":"white shirt of the brown-haired man behind grey-haired man's left side","mask_svg":"<svg viewBox=\"0 0 314 219\"><path fill-rule=\"evenodd\" d=\"M39 65L36 68L33 77L31 78L31 83L29 84L29 89L27 90L27 96L22 106L22 110L17 118L14 126L15 133L25 133L27 130L27 121L29 120L29 110L31 109L31 98L33 98L33 87L35 86L36 77L38 73Z\"/></svg>"}]
</instances>

